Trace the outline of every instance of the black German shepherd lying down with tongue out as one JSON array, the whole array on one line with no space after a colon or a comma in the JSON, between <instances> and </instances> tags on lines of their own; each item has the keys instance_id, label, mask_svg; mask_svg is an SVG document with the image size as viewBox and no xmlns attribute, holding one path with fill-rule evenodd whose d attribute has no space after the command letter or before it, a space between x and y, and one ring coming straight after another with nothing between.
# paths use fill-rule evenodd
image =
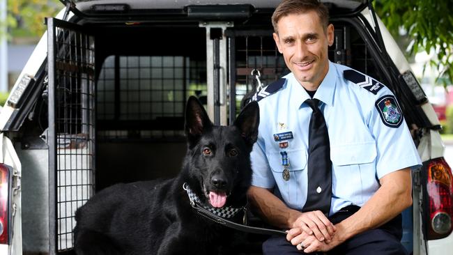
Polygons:
<instances>
[{"instance_id":1,"label":"black German shepherd lying down with tongue out","mask_svg":"<svg viewBox=\"0 0 453 255\"><path fill-rule=\"evenodd\" d=\"M256 102L224 127L214 126L197 98L190 97L181 173L171 180L114 185L93 196L75 215L76 253L217 254L219 247L228 247L233 231L198 215L191 200L233 216L230 220L242 219L235 214L247 203L249 154L258 125Z\"/></svg>"}]
</instances>

